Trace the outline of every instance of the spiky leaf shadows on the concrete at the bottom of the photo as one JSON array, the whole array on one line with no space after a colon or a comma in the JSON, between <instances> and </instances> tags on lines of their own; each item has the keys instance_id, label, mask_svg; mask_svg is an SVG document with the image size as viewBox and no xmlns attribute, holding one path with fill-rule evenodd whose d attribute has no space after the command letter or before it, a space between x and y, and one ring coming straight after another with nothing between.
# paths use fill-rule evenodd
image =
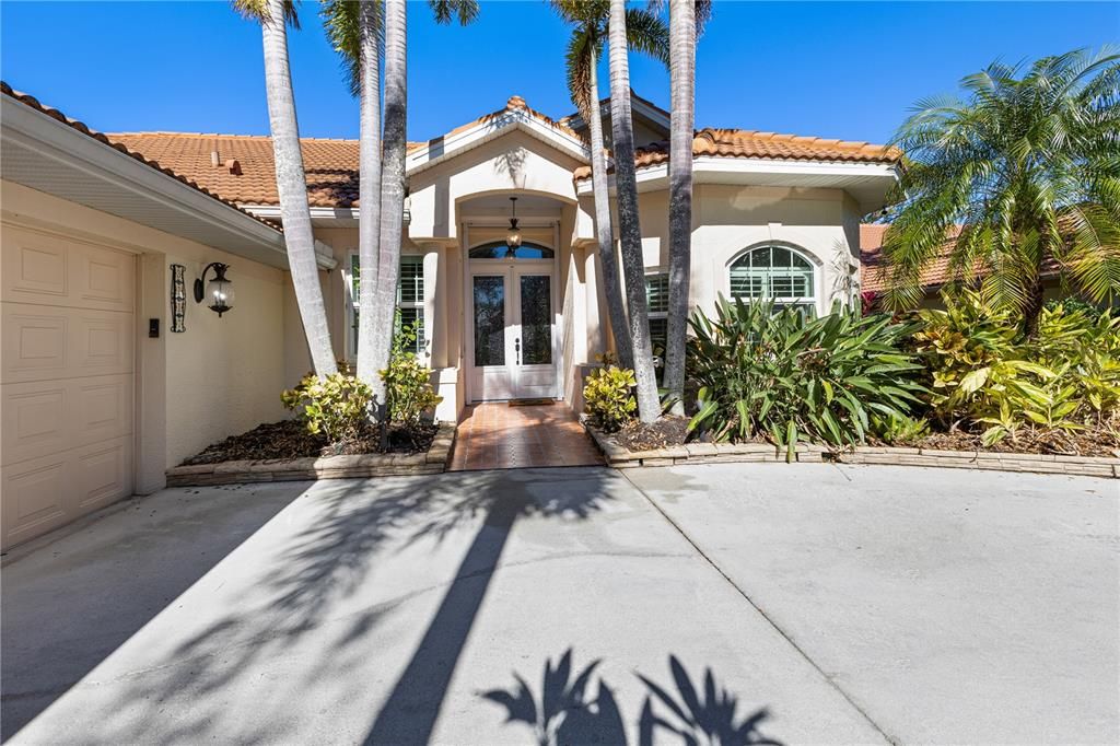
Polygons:
<instances>
[{"instance_id":1,"label":"spiky leaf shadows on the concrete at the bottom of the photo","mask_svg":"<svg viewBox=\"0 0 1120 746\"><path fill-rule=\"evenodd\" d=\"M516 672L513 674L516 684L512 689L494 689L479 696L505 708L507 724L531 728L540 746L627 744L626 726L614 691L601 677L592 679L600 661L592 661L575 673L571 659L569 647L554 665L551 660L544 662L539 698ZM637 719L638 746L653 746L664 743L665 738L679 739L685 746L781 744L760 730L769 712L762 708L740 718L736 711L738 699L717 684L711 669L704 670L701 688L699 681L693 683L675 655L669 656L669 666L672 687L637 674L646 687Z\"/></svg>"}]
</instances>

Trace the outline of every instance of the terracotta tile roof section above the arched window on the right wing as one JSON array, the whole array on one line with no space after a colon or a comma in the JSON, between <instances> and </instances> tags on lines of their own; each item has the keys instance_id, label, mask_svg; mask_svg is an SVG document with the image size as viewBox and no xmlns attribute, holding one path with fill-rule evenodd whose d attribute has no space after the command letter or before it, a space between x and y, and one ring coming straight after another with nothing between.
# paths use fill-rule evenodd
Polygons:
<instances>
[{"instance_id":1,"label":"terracotta tile roof section above the arched window on the right wing","mask_svg":"<svg viewBox=\"0 0 1120 746\"><path fill-rule=\"evenodd\" d=\"M696 133L692 140L692 155L693 157L895 164L900 152L895 148L867 142L776 134L756 130L706 128ZM662 140L640 148L634 153L634 160L638 168L668 162L669 141ZM580 167L576 169L573 176L576 179L590 178L591 169L589 166Z\"/></svg>"}]
</instances>

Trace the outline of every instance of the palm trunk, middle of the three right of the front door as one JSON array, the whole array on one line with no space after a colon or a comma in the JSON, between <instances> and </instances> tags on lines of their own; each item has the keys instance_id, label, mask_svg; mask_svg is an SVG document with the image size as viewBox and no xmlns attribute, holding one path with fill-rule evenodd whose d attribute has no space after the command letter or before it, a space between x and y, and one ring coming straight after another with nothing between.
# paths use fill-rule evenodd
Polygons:
<instances>
[{"instance_id":1,"label":"palm trunk, middle of the three right of the front door","mask_svg":"<svg viewBox=\"0 0 1120 746\"><path fill-rule=\"evenodd\" d=\"M629 103L629 60L626 43L626 0L610 0L610 124L615 151L615 193L618 201L618 233L626 281L631 339L634 347L634 377L637 380L637 414L643 422L661 416L657 379L653 370L653 347L645 305L645 260L638 223L637 177L634 172L634 123Z\"/></svg>"}]
</instances>

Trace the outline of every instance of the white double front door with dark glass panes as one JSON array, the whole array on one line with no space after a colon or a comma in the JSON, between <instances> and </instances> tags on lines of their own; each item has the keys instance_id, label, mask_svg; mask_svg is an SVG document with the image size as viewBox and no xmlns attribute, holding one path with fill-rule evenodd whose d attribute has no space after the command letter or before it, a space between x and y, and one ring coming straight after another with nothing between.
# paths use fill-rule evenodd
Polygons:
<instances>
[{"instance_id":1,"label":"white double front door with dark glass panes","mask_svg":"<svg viewBox=\"0 0 1120 746\"><path fill-rule=\"evenodd\" d=\"M470 262L472 401L557 395L552 260Z\"/></svg>"}]
</instances>

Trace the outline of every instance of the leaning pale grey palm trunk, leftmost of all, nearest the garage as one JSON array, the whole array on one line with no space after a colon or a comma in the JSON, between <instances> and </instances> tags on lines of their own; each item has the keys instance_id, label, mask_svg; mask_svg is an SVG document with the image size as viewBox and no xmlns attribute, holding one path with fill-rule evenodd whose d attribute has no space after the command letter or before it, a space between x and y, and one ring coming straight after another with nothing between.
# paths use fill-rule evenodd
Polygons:
<instances>
[{"instance_id":1,"label":"leaning pale grey palm trunk, leftmost of all, nearest the garage","mask_svg":"<svg viewBox=\"0 0 1120 746\"><path fill-rule=\"evenodd\" d=\"M315 234L311 211L307 204L307 179L304 153L299 146L299 123L296 97L288 66L288 29L284 27L282 0L269 0L269 12L261 19L264 41L264 88L269 104L269 127L277 167L277 192L283 222L288 269L296 290L299 316L311 354L316 375L338 371L330 346L330 328L319 287L319 268L315 261Z\"/></svg>"}]
</instances>

